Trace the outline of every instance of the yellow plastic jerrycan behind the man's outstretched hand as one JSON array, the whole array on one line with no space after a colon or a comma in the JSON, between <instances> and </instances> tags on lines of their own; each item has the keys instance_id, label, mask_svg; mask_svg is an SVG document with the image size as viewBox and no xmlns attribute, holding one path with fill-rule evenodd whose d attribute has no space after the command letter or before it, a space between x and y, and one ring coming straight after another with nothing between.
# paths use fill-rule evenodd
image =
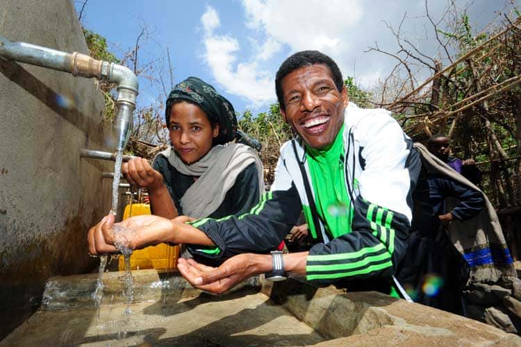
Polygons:
<instances>
[{"instance_id":1,"label":"yellow plastic jerrycan behind the man's outstretched hand","mask_svg":"<svg viewBox=\"0 0 521 347\"><path fill-rule=\"evenodd\" d=\"M148 203L133 203L125 206L123 219L151 214ZM131 269L175 269L179 258L179 246L158 244L133 251L131 255ZM119 271L124 271L124 257L119 256Z\"/></svg>"}]
</instances>

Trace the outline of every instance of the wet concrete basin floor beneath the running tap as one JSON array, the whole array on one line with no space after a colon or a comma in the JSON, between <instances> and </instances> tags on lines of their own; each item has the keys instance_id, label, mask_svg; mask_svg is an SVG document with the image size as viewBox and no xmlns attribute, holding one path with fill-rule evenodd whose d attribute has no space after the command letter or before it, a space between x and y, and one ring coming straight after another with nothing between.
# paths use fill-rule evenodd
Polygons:
<instances>
[{"instance_id":1,"label":"wet concrete basin floor beneath the running tap","mask_svg":"<svg viewBox=\"0 0 521 347\"><path fill-rule=\"evenodd\" d=\"M139 302L130 306L130 315L116 276L105 278L108 291L99 323L92 299L74 298L88 293L81 288L92 288L94 276L58 278L53 288L48 285L47 303L0 346L303 346L324 341L255 285L213 296L182 278L154 279L140 272L134 271Z\"/></svg>"}]
</instances>

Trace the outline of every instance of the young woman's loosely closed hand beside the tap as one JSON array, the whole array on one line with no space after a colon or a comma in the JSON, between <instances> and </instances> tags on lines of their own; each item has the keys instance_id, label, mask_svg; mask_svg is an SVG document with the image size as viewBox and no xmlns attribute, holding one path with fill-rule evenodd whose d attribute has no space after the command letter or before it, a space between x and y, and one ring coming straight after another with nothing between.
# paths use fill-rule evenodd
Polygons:
<instances>
[{"instance_id":1,"label":"young woman's loosely closed hand beside the tap","mask_svg":"<svg viewBox=\"0 0 521 347\"><path fill-rule=\"evenodd\" d=\"M122 174L131 185L153 191L163 186L163 176L143 158L135 158L122 164Z\"/></svg>"}]
</instances>

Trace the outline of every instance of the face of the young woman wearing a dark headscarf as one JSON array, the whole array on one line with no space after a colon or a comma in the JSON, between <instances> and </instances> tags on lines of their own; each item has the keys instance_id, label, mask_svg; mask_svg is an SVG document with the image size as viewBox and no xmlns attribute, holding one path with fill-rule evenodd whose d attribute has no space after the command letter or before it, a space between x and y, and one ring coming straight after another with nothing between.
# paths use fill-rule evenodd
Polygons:
<instances>
[{"instance_id":1,"label":"face of the young woman wearing a dark headscarf","mask_svg":"<svg viewBox=\"0 0 521 347\"><path fill-rule=\"evenodd\" d=\"M193 164L210 151L219 135L219 125L212 126L206 112L189 103L175 103L170 111L170 140L181 160Z\"/></svg>"}]
</instances>

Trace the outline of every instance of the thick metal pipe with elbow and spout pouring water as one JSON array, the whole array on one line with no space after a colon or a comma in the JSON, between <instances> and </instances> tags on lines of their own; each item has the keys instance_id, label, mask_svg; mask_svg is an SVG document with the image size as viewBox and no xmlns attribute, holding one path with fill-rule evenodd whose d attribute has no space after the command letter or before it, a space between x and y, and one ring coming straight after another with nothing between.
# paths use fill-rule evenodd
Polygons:
<instances>
[{"instance_id":1,"label":"thick metal pipe with elbow and spout pouring water","mask_svg":"<svg viewBox=\"0 0 521 347\"><path fill-rule=\"evenodd\" d=\"M104 79L117 85L117 115L114 124L116 150L123 151L132 130L138 77L123 65L96 60L82 53L67 53L26 42L11 42L0 35L0 57L69 72L73 76Z\"/></svg>"}]
</instances>

